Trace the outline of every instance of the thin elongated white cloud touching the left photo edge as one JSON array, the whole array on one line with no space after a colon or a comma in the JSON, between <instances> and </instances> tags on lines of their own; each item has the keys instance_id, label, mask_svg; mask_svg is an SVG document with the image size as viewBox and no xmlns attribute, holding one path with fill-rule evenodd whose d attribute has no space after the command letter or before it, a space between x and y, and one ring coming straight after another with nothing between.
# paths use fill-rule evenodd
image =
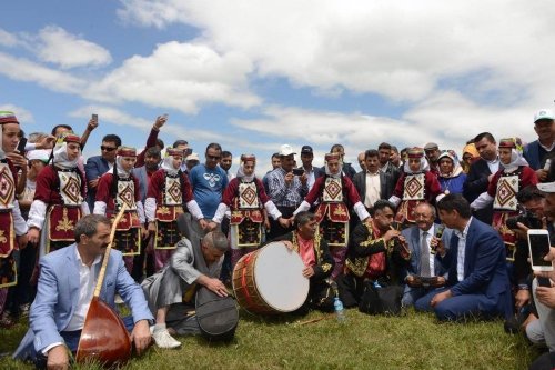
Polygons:
<instances>
[{"instance_id":1,"label":"thin elongated white cloud touching the left photo edge","mask_svg":"<svg viewBox=\"0 0 555 370\"><path fill-rule=\"evenodd\" d=\"M0 52L0 73L18 81L31 81L58 92L81 93L85 81L24 58Z\"/></svg>"}]
</instances>

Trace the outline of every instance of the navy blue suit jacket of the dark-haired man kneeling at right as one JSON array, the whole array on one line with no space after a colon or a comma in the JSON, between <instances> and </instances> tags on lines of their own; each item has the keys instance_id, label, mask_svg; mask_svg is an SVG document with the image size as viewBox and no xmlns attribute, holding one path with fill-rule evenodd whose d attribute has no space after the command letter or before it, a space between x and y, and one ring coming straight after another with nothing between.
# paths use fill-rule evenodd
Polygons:
<instances>
[{"instance_id":1,"label":"navy blue suit jacket of the dark-haired man kneeling at right","mask_svg":"<svg viewBox=\"0 0 555 370\"><path fill-rule=\"evenodd\" d=\"M472 218L466 236L464 280L457 282L458 237L453 232L451 248L443 258L448 270L447 284L453 296L484 294L488 298L507 299L511 310L511 287L505 266L505 244L488 224Z\"/></svg>"}]
</instances>

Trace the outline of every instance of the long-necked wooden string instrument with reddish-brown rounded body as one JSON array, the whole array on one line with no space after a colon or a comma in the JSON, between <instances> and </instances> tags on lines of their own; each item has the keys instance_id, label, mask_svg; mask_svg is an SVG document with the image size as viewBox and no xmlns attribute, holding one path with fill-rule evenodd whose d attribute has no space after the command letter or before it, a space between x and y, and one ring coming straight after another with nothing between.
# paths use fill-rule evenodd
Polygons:
<instances>
[{"instance_id":1,"label":"long-necked wooden string instrument with reddish-brown rounded body","mask_svg":"<svg viewBox=\"0 0 555 370\"><path fill-rule=\"evenodd\" d=\"M75 357L77 362L100 362L104 366L113 366L115 363L124 363L131 357L131 339L123 321L110 306L99 298L108 260L110 259L115 228L125 208L125 206L121 208L112 223L110 243L104 252L97 288L94 289L83 330L81 331L81 338L79 339Z\"/></svg>"}]
</instances>

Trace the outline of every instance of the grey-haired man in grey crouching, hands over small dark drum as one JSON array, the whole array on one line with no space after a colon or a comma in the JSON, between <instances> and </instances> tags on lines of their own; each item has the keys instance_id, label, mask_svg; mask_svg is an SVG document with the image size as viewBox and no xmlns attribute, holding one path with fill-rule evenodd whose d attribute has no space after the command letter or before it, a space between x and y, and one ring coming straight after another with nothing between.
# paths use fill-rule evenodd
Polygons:
<instances>
[{"instance_id":1,"label":"grey-haired man in grey crouching, hands over small dark drum","mask_svg":"<svg viewBox=\"0 0 555 370\"><path fill-rule=\"evenodd\" d=\"M152 338L160 348L178 348L181 342L171 334L198 334L199 323L194 314L194 293L201 284L220 297L228 296L220 276L228 238L220 231L211 231L202 239L191 232L191 239L178 242L170 263L160 272L142 282L149 308L157 318ZM171 333L170 333L171 331Z\"/></svg>"}]
</instances>

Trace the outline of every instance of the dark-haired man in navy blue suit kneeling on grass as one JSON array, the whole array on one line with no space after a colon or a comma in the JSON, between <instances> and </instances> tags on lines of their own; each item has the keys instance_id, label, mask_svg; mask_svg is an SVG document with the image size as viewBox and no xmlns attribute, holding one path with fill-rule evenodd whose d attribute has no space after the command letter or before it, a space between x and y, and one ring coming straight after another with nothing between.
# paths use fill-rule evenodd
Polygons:
<instances>
[{"instance_id":1,"label":"dark-haired man in navy blue suit kneeling on grass","mask_svg":"<svg viewBox=\"0 0 555 370\"><path fill-rule=\"evenodd\" d=\"M461 194L447 194L437 202L440 218L454 229L450 249L437 244L448 271L447 287L418 299L417 310L434 310L440 320L470 316L512 314L511 287L505 267L505 246L497 231L471 216Z\"/></svg>"}]
</instances>

